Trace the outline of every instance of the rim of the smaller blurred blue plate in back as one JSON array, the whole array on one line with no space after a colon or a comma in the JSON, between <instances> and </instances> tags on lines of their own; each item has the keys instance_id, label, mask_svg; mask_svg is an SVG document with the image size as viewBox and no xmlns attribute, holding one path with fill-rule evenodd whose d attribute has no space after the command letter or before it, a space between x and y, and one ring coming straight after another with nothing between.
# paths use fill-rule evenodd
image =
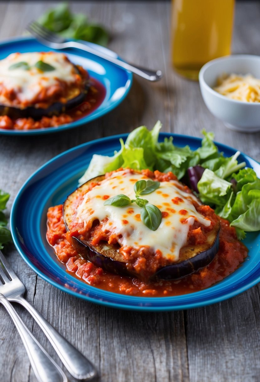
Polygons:
<instances>
[{"instance_id":1,"label":"rim of the smaller blurred blue plate in back","mask_svg":"<svg viewBox=\"0 0 260 382\"><path fill-rule=\"evenodd\" d=\"M2 40L0 42L0 50L1 50L2 47L5 47L6 45L12 45L12 44L15 44L15 43L26 42L26 41L28 41L29 44L30 44L30 42L37 42L38 44L42 45L34 37L31 37L31 36L24 36L24 37L18 36L18 37L14 37L14 38L11 38L11 39ZM107 53L107 54L109 54L109 55L111 55L113 57L116 57L120 61L124 61L119 55L117 55L117 53L113 52L111 49L108 49L108 48L103 47L103 46L98 45L98 44L94 44L92 42L86 42L86 41L82 41L82 40L77 40L77 41L82 42L83 44L86 44L86 45L90 45L94 49L103 51L103 52L105 52L105 53ZM45 45L42 45L42 47L46 48ZM69 49L55 50L55 49L48 48L48 50L55 51L55 52L65 52L67 54L70 54L68 52ZM78 49L78 51L80 52L80 49ZM92 54L92 53L84 52L84 54L89 54L91 57L95 57L95 55ZM80 54L77 54L77 55L79 57L83 57L83 56L80 56ZM132 83L133 83L133 73L128 71L128 70L125 70L124 68L119 68L118 66L116 66L116 65L106 61L104 58L98 57L98 59L101 60L101 62L107 62L108 65L112 65L113 67L118 68L118 70L120 70L120 71L121 70L124 71L126 73L126 75L127 75L127 81L125 82L125 84L127 86L125 85L125 92L124 92L124 94L122 94L122 96L119 99L117 99L112 104L110 104L110 106L108 106L107 108L104 108L104 110L102 110L100 113L98 113L98 109L100 108L101 105L103 105L103 102L104 102L103 101L102 104L98 108L93 110L93 112L88 114L86 117L80 118L79 120L76 120L76 121L71 122L71 123L67 123L65 125L60 125L58 127L48 127L48 128L31 129L31 130L5 130L5 129L0 129L0 134L3 134L3 135L21 135L21 136L27 136L27 135L38 135L38 134L41 135L41 134L49 134L49 133L59 133L60 131L64 131L64 130L68 130L68 129L73 129L73 128L76 128L78 126L82 126L84 124L87 124L87 123L89 123L91 121L94 121L94 120L102 117L103 115L111 112L114 108L116 108L125 99L125 97L127 96L128 92L130 91L130 88L131 88ZM95 60L93 60L93 61L95 61Z\"/></svg>"}]
</instances>

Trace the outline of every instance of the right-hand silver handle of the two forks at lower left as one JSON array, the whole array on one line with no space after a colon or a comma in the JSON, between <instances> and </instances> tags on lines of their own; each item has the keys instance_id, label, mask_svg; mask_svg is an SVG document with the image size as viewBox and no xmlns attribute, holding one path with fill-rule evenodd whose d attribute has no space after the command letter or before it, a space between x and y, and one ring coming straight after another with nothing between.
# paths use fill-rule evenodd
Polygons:
<instances>
[{"instance_id":1,"label":"right-hand silver handle of the two forks at lower left","mask_svg":"<svg viewBox=\"0 0 260 382\"><path fill-rule=\"evenodd\" d=\"M62 363L74 378L90 380L96 377L96 369L82 353L71 345L45 318L22 296L11 298L34 317L37 324L45 333ZM53 379L54 380L54 379Z\"/></svg>"}]
</instances>

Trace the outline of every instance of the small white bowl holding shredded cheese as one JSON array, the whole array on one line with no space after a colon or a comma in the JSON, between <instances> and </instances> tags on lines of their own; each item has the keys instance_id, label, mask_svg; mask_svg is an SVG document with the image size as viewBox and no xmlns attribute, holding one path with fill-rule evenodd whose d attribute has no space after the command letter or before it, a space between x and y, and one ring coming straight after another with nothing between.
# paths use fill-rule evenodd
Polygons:
<instances>
[{"instance_id":1,"label":"small white bowl holding shredded cheese","mask_svg":"<svg viewBox=\"0 0 260 382\"><path fill-rule=\"evenodd\" d=\"M236 131L260 131L260 103L229 99L212 89L223 73L252 74L260 79L260 56L232 55L216 58L202 66L199 72L202 97L215 117Z\"/></svg>"}]
</instances>

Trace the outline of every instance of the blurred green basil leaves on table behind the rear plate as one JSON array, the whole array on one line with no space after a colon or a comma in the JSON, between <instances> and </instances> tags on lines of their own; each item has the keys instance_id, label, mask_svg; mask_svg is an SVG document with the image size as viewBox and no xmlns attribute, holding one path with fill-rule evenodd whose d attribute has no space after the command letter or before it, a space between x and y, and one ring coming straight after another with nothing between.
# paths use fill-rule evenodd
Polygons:
<instances>
[{"instance_id":1,"label":"blurred green basil leaves on table behind the rear plate","mask_svg":"<svg viewBox=\"0 0 260 382\"><path fill-rule=\"evenodd\" d=\"M106 29L92 23L83 13L72 13L67 3L47 10L37 21L67 39L85 40L104 46L108 44L109 34Z\"/></svg>"}]
</instances>

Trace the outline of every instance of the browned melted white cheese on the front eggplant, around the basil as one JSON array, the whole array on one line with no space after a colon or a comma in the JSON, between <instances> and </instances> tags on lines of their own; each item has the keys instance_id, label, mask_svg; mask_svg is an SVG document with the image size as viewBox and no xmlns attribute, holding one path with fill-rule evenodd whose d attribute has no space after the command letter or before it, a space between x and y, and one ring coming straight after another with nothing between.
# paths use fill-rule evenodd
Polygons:
<instances>
[{"instance_id":1,"label":"browned melted white cheese on the front eggplant, around the basil","mask_svg":"<svg viewBox=\"0 0 260 382\"><path fill-rule=\"evenodd\" d=\"M101 222L108 218L104 230L122 235L119 239L121 246L149 246L153 251L159 249L167 259L177 261L180 248L186 244L189 227L195 220L208 227L210 220L199 214L193 206L192 200L198 202L197 198L181 190L180 183L174 180L160 182L159 189L140 196L163 212L162 222L156 231L141 222L141 208L136 203L126 207L104 206L104 200L117 194L135 199L134 184L141 179L149 178L128 170L113 173L85 194L77 208L76 220L89 226L96 219Z\"/></svg>"}]
</instances>

